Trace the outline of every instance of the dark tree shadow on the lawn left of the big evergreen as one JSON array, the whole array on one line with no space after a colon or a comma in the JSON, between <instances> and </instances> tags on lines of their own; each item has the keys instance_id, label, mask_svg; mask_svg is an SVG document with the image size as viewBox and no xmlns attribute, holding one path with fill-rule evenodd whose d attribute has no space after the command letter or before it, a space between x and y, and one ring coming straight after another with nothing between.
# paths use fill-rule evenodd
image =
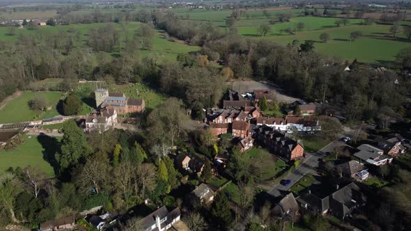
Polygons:
<instances>
[{"instance_id":1,"label":"dark tree shadow on the lawn left of the big evergreen","mask_svg":"<svg viewBox=\"0 0 411 231\"><path fill-rule=\"evenodd\" d=\"M60 150L59 141L55 137L44 135L37 136L37 140L44 149L42 151L42 158L53 167L54 173L58 173L59 164L56 161L56 152L59 152Z\"/></svg>"}]
</instances>

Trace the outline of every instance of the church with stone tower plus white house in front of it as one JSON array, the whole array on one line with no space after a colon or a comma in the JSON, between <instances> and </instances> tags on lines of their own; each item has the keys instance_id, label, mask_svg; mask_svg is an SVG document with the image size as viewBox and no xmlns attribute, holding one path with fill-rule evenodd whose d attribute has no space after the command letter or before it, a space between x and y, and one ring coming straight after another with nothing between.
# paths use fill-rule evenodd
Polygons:
<instances>
[{"instance_id":1,"label":"church with stone tower plus white house in front of it","mask_svg":"<svg viewBox=\"0 0 411 231\"><path fill-rule=\"evenodd\" d=\"M107 131L117 123L118 115L141 113L145 109L144 99L125 97L123 93L109 93L109 90L95 90L95 106L98 112L88 116L85 121L85 132L95 129Z\"/></svg>"}]
</instances>

